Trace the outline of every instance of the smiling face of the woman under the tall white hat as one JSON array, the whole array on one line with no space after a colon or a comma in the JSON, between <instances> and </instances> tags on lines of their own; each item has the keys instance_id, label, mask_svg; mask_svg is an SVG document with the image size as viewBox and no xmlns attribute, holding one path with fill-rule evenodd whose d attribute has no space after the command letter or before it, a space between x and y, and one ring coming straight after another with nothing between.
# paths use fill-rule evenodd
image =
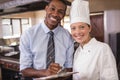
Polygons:
<instances>
[{"instance_id":1,"label":"smiling face of the woman under the tall white hat","mask_svg":"<svg viewBox=\"0 0 120 80\"><path fill-rule=\"evenodd\" d=\"M90 40L91 26L86 23L77 22L70 26L72 37L80 44L84 45Z\"/></svg>"}]
</instances>

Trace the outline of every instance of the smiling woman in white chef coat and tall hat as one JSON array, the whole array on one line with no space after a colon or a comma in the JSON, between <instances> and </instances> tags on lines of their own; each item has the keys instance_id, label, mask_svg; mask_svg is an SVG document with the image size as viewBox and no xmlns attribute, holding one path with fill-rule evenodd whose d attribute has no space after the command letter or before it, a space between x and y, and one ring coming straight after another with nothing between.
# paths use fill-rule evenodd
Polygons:
<instances>
[{"instance_id":1,"label":"smiling woman in white chef coat and tall hat","mask_svg":"<svg viewBox=\"0 0 120 80\"><path fill-rule=\"evenodd\" d=\"M74 0L71 7L71 34L79 43L74 55L73 80L118 80L116 61L108 44L90 36L89 3Z\"/></svg>"}]
</instances>

